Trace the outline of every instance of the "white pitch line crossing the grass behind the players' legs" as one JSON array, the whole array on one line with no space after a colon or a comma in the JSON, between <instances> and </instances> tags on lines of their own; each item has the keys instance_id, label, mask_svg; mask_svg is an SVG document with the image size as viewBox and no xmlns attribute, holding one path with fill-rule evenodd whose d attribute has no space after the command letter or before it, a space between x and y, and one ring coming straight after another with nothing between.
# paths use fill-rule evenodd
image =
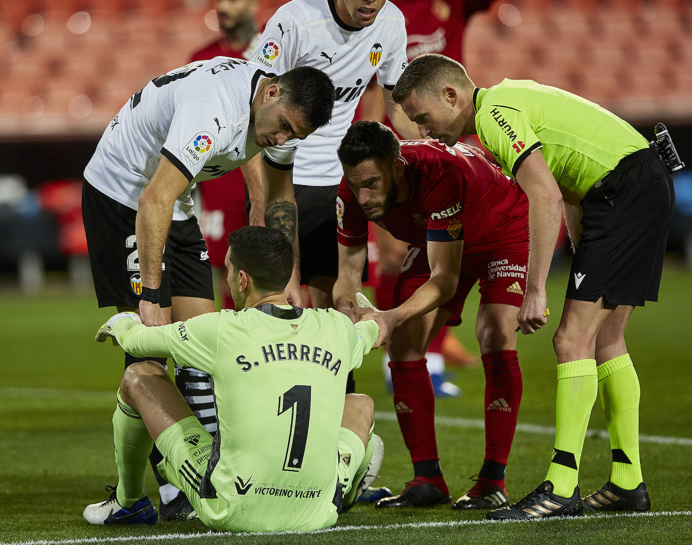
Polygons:
<instances>
[{"instance_id":1,"label":"white pitch line crossing the grass behind the players' legs","mask_svg":"<svg viewBox=\"0 0 692 545\"><path fill-rule=\"evenodd\" d=\"M58 388L12 388L0 387L0 398L44 398L44 399L62 399L62 398L101 398L104 401L112 401L115 399L115 390L113 391L89 391L79 389L58 389ZM376 420L389 422L397 421L397 414L394 412L376 411ZM435 425L450 426L450 427L466 427L470 429L484 429L485 423L482 420L473 418L457 418L456 416L435 416ZM540 426L537 424L517 424L516 431L539 434L539 435L555 435L555 428L550 426ZM608 431L605 429L588 429L587 437L596 437L607 439ZM692 438L690 437L674 437L666 435L639 435L640 443L653 443L655 445L683 445L692 446ZM1 545L1 544L0 544Z\"/></svg>"}]
</instances>

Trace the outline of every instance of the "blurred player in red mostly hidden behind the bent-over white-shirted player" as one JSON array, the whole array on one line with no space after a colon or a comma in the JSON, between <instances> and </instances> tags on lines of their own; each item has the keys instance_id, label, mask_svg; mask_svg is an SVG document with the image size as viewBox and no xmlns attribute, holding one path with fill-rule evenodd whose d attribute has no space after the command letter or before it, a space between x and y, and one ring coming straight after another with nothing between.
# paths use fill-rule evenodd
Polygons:
<instances>
[{"instance_id":1,"label":"blurred player in red mostly hidden behind the bent-over white-shirted player","mask_svg":"<svg viewBox=\"0 0 692 545\"><path fill-rule=\"evenodd\" d=\"M216 10L221 36L190 57L190 62L212 59L219 55L235 59L247 59L252 53L255 27L256 2L253 0L217 0ZM219 127L221 131L222 127ZM202 213L199 226L209 250L212 267L223 271L228 244L228 233L248 223L245 211L245 183L241 169L235 169L199 185ZM223 295L224 308L235 308L221 274L219 291Z\"/></svg>"}]
</instances>

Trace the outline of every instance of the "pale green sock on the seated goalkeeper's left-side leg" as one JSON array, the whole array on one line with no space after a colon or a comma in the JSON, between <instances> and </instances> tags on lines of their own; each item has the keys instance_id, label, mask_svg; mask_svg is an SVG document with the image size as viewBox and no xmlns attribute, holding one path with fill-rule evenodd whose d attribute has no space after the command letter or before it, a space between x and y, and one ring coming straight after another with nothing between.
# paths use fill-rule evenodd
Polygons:
<instances>
[{"instance_id":1,"label":"pale green sock on the seated goalkeeper's left-side leg","mask_svg":"<svg viewBox=\"0 0 692 545\"><path fill-rule=\"evenodd\" d=\"M120 397L120 389L113 413L113 444L118 465L118 504L129 508L145 495L144 475L154 441L142 417Z\"/></svg>"}]
</instances>

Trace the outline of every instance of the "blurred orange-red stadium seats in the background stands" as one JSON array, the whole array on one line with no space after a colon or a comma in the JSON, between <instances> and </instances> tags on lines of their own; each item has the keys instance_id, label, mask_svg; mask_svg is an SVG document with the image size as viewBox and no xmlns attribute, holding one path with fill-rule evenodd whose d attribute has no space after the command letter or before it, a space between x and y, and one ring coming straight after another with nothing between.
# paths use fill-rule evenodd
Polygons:
<instances>
[{"instance_id":1,"label":"blurred orange-red stadium seats in the background stands","mask_svg":"<svg viewBox=\"0 0 692 545\"><path fill-rule=\"evenodd\" d=\"M276 3L260 1L258 19ZM0 138L100 135L131 93L210 41L204 15L212 7L207 0L0 2L7 51ZM466 66L480 86L529 78L630 122L662 113L692 119L690 0L497 0L473 16L464 39ZM79 95L91 111L80 99L75 117L69 107Z\"/></svg>"}]
</instances>

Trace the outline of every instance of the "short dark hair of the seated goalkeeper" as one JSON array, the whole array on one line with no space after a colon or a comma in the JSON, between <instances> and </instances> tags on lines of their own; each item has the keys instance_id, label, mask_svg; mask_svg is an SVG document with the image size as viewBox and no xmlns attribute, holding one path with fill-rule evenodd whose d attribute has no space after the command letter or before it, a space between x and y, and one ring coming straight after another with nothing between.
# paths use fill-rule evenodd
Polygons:
<instances>
[{"instance_id":1,"label":"short dark hair of the seated goalkeeper","mask_svg":"<svg viewBox=\"0 0 692 545\"><path fill-rule=\"evenodd\" d=\"M262 293L286 288L293 273L293 246L278 229L251 225L228 235L230 263L244 270Z\"/></svg>"}]
</instances>

